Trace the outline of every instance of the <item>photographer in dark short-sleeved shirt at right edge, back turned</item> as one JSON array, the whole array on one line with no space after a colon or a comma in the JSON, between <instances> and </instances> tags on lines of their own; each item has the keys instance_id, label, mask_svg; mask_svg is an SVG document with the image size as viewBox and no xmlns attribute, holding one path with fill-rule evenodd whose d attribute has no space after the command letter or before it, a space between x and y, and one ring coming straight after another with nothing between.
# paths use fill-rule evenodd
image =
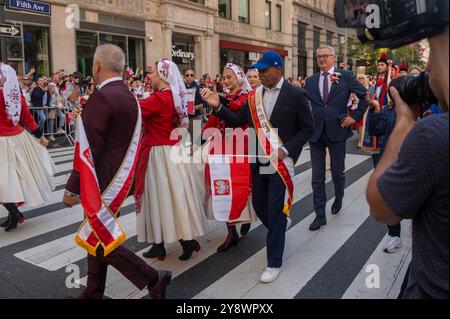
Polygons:
<instances>
[{"instance_id":1,"label":"photographer in dark short-sleeved shirt at right edge, back turned","mask_svg":"<svg viewBox=\"0 0 450 319\"><path fill-rule=\"evenodd\" d=\"M413 221L412 260L403 298L449 298L449 29L429 39L430 86L444 114L417 121L395 88L396 125L371 177L371 215ZM405 97L405 96L404 96ZM406 97L405 97L406 99Z\"/></svg>"}]
</instances>

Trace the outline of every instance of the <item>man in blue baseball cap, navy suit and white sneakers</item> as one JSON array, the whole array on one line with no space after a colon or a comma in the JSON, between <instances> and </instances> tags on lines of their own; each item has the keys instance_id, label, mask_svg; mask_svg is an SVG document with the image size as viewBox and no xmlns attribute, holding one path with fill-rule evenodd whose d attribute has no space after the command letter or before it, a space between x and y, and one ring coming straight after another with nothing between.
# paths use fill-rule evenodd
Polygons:
<instances>
[{"instance_id":1,"label":"man in blue baseball cap, navy suit and white sneakers","mask_svg":"<svg viewBox=\"0 0 450 319\"><path fill-rule=\"evenodd\" d=\"M221 105L219 96L208 89L202 90L202 98L215 109L215 114L233 127L249 124L257 129L257 121L265 118L262 127L278 129L279 147L274 147L270 157L274 161L289 160L293 168L300 157L303 146L311 138L314 123L308 95L305 90L294 87L283 77L283 59L276 52L267 52L261 60L252 66L260 72L263 87L250 95L249 102L233 113ZM259 97L259 98L258 98ZM255 117L255 100L259 101L259 114ZM253 102L252 102L253 101ZM260 123L262 124L262 122ZM278 139L276 139L278 141ZM251 143L249 143L250 145ZM249 150L248 154L255 154ZM253 163L252 193L253 206L268 229L267 259L268 266L261 276L262 283L275 281L283 263L286 230L290 219L285 210L286 175L277 170L268 172L261 162ZM289 180L289 177L287 178ZM292 183L293 184L293 183Z\"/></svg>"}]
</instances>

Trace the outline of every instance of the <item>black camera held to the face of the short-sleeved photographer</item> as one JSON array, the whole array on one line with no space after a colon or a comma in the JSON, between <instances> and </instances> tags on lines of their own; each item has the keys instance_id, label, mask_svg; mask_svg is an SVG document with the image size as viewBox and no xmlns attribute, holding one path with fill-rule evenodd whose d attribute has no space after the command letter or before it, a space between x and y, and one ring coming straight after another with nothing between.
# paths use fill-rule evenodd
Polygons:
<instances>
[{"instance_id":1,"label":"black camera held to the face of the short-sleeved photographer","mask_svg":"<svg viewBox=\"0 0 450 319\"><path fill-rule=\"evenodd\" d=\"M428 72L422 72L419 75L403 76L392 80L390 86L397 89L403 101L408 105L417 105L427 109L432 104L438 103L431 90L429 79Z\"/></svg>"}]
</instances>

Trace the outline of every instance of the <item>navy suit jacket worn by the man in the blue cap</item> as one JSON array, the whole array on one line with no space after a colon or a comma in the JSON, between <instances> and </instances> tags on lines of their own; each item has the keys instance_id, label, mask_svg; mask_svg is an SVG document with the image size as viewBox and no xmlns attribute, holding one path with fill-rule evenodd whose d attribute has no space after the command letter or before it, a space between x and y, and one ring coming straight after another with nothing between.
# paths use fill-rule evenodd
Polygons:
<instances>
[{"instance_id":1,"label":"navy suit jacket worn by the man in the blue cap","mask_svg":"<svg viewBox=\"0 0 450 319\"><path fill-rule=\"evenodd\" d=\"M231 127L241 127L245 124L253 127L248 103L237 113L222 106L215 114ZM297 162L303 146L314 132L308 93L285 80L270 117L270 123L273 128L278 129L278 136L283 146L289 152L289 156ZM251 150L249 153L252 153ZM252 167L254 168L253 165Z\"/></svg>"}]
</instances>

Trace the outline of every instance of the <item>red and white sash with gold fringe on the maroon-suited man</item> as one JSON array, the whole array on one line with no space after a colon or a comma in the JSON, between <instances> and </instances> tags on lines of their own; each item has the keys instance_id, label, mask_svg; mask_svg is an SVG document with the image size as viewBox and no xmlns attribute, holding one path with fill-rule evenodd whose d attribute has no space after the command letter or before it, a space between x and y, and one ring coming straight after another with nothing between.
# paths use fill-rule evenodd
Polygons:
<instances>
[{"instance_id":1,"label":"red and white sash with gold fringe on the maroon-suited man","mask_svg":"<svg viewBox=\"0 0 450 319\"><path fill-rule=\"evenodd\" d=\"M103 246L104 256L108 256L126 240L117 214L131 189L138 159L141 140L139 103L138 109L138 119L128 151L119 171L103 194L100 194L83 121L81 116L77 117L74 170L80 173L81 205L85 220L78 230L75 241L93 256L96 256L99 245Z\"/></svg>"}]
</instances>

